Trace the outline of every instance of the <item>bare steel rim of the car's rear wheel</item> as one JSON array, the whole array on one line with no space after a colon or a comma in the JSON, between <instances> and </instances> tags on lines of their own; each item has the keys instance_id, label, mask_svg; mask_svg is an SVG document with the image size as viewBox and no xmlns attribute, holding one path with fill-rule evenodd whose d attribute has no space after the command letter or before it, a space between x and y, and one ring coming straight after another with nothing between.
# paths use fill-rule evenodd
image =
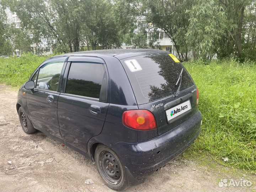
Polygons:
<instances>
[{"instance_id":1,"label":"bare steel rim of the car's rear wheel","mask_svg":"<svg viewBox=\"0 0 256 192\"><path fill-rule=\"evenodd\" d=\"M114 185L119 183L122 178L122 169L118 159L108 150L100 153L100 170L106 180Z\"/></svg>"}]
</instances>

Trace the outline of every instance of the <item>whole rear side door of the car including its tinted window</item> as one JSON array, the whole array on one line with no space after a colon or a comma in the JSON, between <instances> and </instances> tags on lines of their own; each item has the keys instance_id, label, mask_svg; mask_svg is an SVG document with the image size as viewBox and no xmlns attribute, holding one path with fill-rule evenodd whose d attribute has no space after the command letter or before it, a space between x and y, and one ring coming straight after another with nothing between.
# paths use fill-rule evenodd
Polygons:
<instances>
[{"instance_id":1,"label":"whole rear side door of the car including its tinted window","mask_svg":"<svg viewBox=\"0 0 256 192\"><path fill-rule=\"evenodd\" d=\"M87 152L87 142L101 133L109 103L104 61L70 57L58 99L60 133L67 145Z\"/></svg>"}]
</instances>

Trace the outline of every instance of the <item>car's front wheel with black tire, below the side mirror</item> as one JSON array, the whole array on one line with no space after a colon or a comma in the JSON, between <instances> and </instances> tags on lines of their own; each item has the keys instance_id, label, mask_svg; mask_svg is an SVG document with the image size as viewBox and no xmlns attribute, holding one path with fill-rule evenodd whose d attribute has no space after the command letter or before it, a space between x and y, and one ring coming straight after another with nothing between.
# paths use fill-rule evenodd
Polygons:
<instances>
[{"instance_id":1,"label":"car's front wheel with black tire, below the side mirror","mask_svg":"<svg viewBox=\"0 0 256 192\"><path fill-rule=\"evenodd\" d=\"M28 116L22 107L19 108L18 115L20 118L21 127L25 133L31 134L36 132L36 129L33 127L30 119L28 119Z\"/></svg>"}]
</instances>

